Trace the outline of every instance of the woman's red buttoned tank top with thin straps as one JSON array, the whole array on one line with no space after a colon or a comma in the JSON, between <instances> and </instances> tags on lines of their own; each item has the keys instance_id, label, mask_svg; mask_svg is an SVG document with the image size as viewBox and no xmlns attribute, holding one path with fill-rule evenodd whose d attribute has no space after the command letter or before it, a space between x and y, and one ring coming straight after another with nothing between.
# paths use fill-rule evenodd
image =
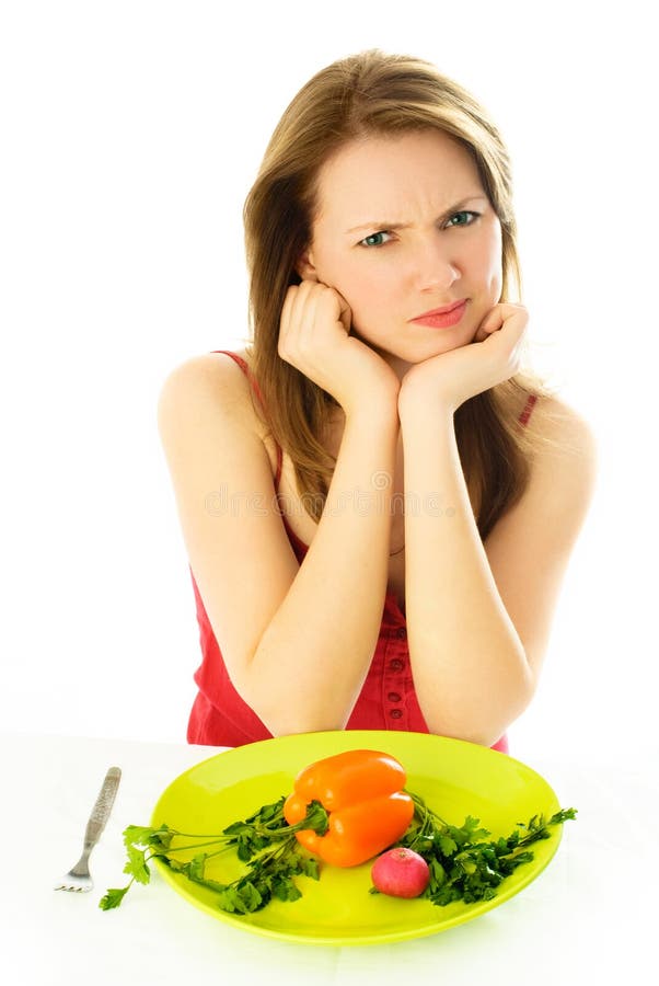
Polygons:
<instances>
[{"instance_id":1,"label":"woman's red buttoned tank top with thin straps","mask_svg":"<svg viewBox=\"0 0 659 986\"><path fill-rule=\"evenodd\" d=\"M227 349L216 349L215 352L226 353L238 363L256 395L263 402L258 385L245 360L236 353ZM535 400L534 394L529 397L520 417L520 422L524 425ZM276 491L279 489L281 458L281 449L278 447ZM281 517L296 557L302 563L308 546L294 535L286 517L284 515ZM199 690L189 716L187 741L209 746L243 746L258 740L268 740L273 734L268 732L253 709L242 700L231 684L192 569L190 576L197 607L203 660L195 673L195 683ZM429 732L414 690L405 617L393 592L386 592L378 643L346 729ZM494 744L493 749L508 753L506 735Z\"/></svg>"}]
</instances>

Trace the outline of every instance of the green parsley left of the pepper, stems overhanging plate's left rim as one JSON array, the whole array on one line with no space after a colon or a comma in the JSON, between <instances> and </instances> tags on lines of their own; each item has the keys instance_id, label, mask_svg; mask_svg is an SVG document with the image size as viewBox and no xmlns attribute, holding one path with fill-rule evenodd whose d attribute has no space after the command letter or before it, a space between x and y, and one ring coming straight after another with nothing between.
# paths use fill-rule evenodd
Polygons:
<instances>
[{"instance_id":1,"label":"green parsley left of the pepper, stems overhanging plate's left rim","mask_svg":"<svg viewBox=\"0 0 659 986\"><path fill-rule=\"evenodd\" d=\"M219 834L185 833L170 828L169 825L160 825L158 828L129 825L124 830L128 855L124 872L130 876L130 882L127 886L108 890L99 906L103 910L118 907L136 881L149 883L149 862L152 859L162 860L173 872L213 891L222 910L248 914L261 910L273 897L297 901L302 895L293 876L304 875L317 880L320 871L317 860L302 849L296 839L296 832L313 828L319 835L324 835L328 818L322 804L312 801L307 816L296 825L288 825L284 817L284 801L282 795L273 804L259 807L248 818L232 823ZM176 845L172 845L174 840ZM187 861L182 861L174 855L210 847L219 848L197 852ZM232 883L219 883L206 875L206 863L228 850L234 851L239 860L247 863L247 872Z\"/></svg>"}]
</instances>

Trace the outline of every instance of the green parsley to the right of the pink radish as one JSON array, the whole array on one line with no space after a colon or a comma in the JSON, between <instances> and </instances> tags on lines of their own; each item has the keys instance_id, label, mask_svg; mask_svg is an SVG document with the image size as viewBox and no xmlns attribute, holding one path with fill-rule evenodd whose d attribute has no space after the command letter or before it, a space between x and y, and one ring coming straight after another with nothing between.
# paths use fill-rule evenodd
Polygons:
<instances>
[{"instance_id":1,"label":"green parsley to the right of the pink radish","mask_svg":"<svg viewBox=\"0 0 659 986\"><path fill-rule=\"evenodd\" d=\"M551 827L577 815L576 809L562 809L548 819L542 814L533 815L525 824L518 822L508 838L488 840L492 833L479 827L478 818L467 815L462 826L450 825L423 798L409 793L414 818L397 845L424 857L430 882L423 896L440 907L453 901L492 901L501 881L533 859L528 847L548 839ZM371 892L377 893L374 888Z\"/></svg>"}]
</instances>

